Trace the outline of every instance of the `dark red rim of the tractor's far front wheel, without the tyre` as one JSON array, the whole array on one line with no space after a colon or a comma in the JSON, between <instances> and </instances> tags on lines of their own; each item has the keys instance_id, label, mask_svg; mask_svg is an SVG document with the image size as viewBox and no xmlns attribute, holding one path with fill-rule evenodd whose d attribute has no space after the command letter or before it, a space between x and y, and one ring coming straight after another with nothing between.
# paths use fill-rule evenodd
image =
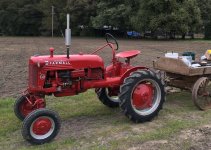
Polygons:
<instances>
[{"instance_id":1,"label":"dark red rim of the tractor's far front wheel, without the tyre","mask_svg":"<svg viewBox=\"0 0 211 150\"><path fill-rule=\"evenodd\" d=\"M30 96L24 96L24 99L20 103L19 111L21 112L21 114L24 117L26 117L33 110L36 110L38 108L44 108L44 107L45 107L45 101L44 101L44 99L39 98L39 99L36 99L35 100L35 99L30 98Z\"/></svg>"}]
</instances>

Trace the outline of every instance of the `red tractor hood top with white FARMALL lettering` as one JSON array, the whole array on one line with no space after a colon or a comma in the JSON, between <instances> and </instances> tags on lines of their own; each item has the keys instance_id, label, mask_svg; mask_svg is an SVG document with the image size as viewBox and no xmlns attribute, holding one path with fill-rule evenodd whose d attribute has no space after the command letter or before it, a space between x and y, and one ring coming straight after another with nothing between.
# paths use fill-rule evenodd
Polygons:
<instances>
[{"instance_id":1,"label":"red tractor hood top with white FARMALL lettering","mask_svg":"<svg viewBox=\"0 0 211 150\"><path fill-rule=\"evenodd\" d=\"M70 55L68 59L66 55L51 56L32 56L29 64L38 67L55 68L55 69L83 69L83 68L104 68L104 63L98 55Z\"/></svg>"}]
</instances>

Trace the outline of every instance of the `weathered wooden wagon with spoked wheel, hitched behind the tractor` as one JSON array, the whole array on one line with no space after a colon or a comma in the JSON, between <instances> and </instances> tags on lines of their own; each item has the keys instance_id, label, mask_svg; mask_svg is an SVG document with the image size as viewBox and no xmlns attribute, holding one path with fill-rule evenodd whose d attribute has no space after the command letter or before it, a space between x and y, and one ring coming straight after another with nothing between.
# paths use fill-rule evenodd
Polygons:
<instances>
[{"instance_id":1,"label":"weathered wooden wagon with spoked wheel, hitched behind the tractor","mask_svg":"<svg viewBox=\"0 0 211 150\"><path fill-rule=\"evenodd\" d=\"M179 58L160 57L153 62L153 67L164 72L167 86L191 91L197 108L211 108L211 66L191 67Z\"/></svg>"}]
</instances>

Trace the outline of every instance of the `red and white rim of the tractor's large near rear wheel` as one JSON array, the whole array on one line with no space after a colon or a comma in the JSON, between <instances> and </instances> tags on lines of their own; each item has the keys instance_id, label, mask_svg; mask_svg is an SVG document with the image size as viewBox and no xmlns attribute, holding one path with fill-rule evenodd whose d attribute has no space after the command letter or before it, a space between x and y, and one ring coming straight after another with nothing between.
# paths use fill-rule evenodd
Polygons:
<instances>
[{"instance_id":1,"label":"red and white rim of the tractor's large near rear wheel","mask_svg":"<svg viewBox=\"0 0 211 150\"><path fill-rule=\"evenodd\" d=\"M141 80L134 86L131 98L131 105L136 113L143 116L150 115L160 104L160 86L152 79Z\"/></svg>"}]
</instances>

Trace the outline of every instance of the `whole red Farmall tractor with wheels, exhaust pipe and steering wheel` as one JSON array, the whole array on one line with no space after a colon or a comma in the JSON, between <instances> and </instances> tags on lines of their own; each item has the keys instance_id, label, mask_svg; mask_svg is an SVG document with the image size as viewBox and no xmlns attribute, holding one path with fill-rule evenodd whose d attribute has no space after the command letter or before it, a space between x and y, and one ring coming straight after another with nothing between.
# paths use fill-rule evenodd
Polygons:
<instances>
[{"instance_id":1,"label":"whole red Farmall tractor with wheels, exhaust pipe and steering wheel","mask_svg":"<svg viewBox=\"0 0 211 150\"><path fill-rule=\"evenodd\" d=\"M104 105L119 106L134 122L150 121L158 114L165 99L164 85L148 68L130 64L130 59L140 51L116 54L118 43L111 34L106 34L107 43L93 53L69 55L69 15L65 34L67 55L54 55L50 48L50 55L29 59L28 88L14 105L16 116L23 120L24 139L43 144L59 132L60 117L45 108L45 95L72 96L94 88ZM107 46L111 48L112 63L105 67L96 53ZM125 62L120 62L120 58Z\"/></svg>"}]
</instances>

